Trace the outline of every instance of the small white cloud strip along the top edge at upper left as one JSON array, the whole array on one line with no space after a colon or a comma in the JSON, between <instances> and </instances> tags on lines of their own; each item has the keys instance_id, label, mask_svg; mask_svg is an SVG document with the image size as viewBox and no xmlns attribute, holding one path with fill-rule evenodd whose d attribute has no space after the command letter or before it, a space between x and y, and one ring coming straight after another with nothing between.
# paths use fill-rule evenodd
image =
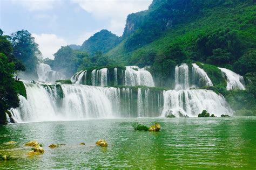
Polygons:
<instances>
[{"instance_id":1,"label":"small white cloud strip along the top edge at upper left","mask_svg":"<svg viewBox=\"0 0 256 170\"><path fill-rule=\"evenodd\" d=\"M29 11L49 10L59 0L11 0L13 4L21 5Z\"/></svg>"}]
</instances>

